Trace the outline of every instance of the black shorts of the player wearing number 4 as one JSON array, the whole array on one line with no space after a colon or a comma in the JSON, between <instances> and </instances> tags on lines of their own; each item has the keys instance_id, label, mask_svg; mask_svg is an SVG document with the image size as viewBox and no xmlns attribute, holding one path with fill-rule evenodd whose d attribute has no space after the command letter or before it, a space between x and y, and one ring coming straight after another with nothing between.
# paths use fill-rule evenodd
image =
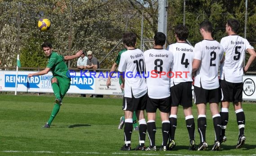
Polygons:
<instances>
[{"instance_id":1,"label":"black shorts of the player wearing number 4","mask_svg":"<svg viewBox=\"0 0 256 156\"><path fill-rule=\"evenodd\" d=\"M192 82L181 82L171 87L172 107L192 107Z\"/></svg>"}]
</instances>

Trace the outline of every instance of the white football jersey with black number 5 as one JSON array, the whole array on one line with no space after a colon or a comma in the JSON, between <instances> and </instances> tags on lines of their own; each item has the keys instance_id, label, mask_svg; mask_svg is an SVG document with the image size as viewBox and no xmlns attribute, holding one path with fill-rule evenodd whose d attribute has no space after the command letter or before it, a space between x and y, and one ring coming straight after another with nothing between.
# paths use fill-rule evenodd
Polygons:
<instances>
[{"instance_id":1,"label":"white football jersey with black number 5","mask_svg":"<svg viewBox=\"0 0 256 156\"><path fill-rule=\"evenodd\" d=\"M225 61L221 64L221 80L243 82L243 61L247 49L253 49L247 39L229 35L221 39L225 51Z\"/></svg>"}]
</instances>

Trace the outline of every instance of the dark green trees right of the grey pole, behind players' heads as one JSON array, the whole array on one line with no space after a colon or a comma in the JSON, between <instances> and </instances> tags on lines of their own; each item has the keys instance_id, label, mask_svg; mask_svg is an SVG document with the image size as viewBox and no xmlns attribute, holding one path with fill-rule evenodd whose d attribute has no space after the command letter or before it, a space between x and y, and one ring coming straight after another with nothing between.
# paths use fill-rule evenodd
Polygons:
<instances>
[{"instance_id":1,"label":"dark green trees right of the grey pole, behind players' heads","mask_svg":"<svg viewBox=\"0 0 256 156\"><path fill-rule=\"evenodd\" d=\"M183 24L184 0L170 0L168 7L168 43L175 42L174 26ZM254 42L256 5L253 0L248 0L247 39ZM188 26L189 41L193 45L200 41L199 23L209 20L213 23L213 38L220 41L225 34L225 24L228 19L237 18L241 23L239 35L244 36L245 0L186 0L185 1L185 26ZM253 22L254 20L254 22ZM254 26L253 26L254 25Z\"/></svg>"}]
</instances>

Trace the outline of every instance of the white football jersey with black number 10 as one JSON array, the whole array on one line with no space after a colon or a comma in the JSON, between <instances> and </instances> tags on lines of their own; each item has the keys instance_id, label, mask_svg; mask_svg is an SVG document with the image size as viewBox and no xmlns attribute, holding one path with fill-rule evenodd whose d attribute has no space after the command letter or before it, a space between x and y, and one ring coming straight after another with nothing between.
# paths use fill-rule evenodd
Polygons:
<instances>
[{"instance_id":1,"label":"white football jersey with black number 10","mask_svg":"<svg viewBox=\"0 0 256 156\"><path fill-rule=\"evenodd\" d=\"M118 67L119 72L124 73L124 97L139 98L146 94L144 55L140 49L127 50L121 54Z\"/></svg>"}]
</instances>

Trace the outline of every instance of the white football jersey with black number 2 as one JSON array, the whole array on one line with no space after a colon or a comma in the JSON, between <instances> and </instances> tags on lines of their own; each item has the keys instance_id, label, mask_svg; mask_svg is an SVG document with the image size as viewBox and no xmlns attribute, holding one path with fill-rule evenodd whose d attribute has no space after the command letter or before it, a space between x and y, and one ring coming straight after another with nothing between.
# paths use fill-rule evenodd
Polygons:
<instances>
[{"instance_id":1,"label":"white football jersey with black number 2","mask_svg":"<svg viewBox=\"0 0 256 156\"><path fill-rule=\"evenodd\" d=\"M219 64L224 55L224 49L216 40L207 40L196 43L194 59L201 60L196 71L194 86L204 89L216 89L220 86L218 79Z\"/></svg>"}]
</instances>

